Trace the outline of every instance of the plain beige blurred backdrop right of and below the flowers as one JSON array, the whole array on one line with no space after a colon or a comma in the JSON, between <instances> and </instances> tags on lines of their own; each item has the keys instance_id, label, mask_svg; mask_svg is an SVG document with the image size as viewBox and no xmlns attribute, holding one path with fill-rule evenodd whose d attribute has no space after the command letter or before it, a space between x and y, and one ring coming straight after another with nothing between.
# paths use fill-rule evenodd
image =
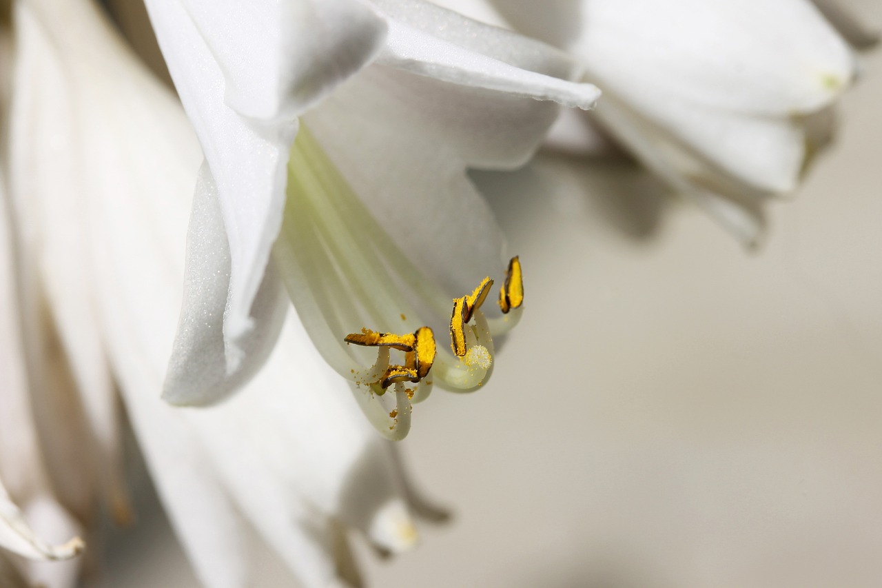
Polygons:
<instances>
[{"instance_id":1,"label":"plain beige blurred backdrop right of and below the flowers","mask_svg":"<svg viewBox=\"0 0 882 588\"><path fill-rule=\"evenodd\" d=\"M756 253L630 163L475 174L526 312L489 386L415 408L402 451L452 520L393 560L355 538L369 585L882 585L882 54L863 63ZM149 492L139 512L102 585L197 586Z\"/></svg>"}]
</instances>

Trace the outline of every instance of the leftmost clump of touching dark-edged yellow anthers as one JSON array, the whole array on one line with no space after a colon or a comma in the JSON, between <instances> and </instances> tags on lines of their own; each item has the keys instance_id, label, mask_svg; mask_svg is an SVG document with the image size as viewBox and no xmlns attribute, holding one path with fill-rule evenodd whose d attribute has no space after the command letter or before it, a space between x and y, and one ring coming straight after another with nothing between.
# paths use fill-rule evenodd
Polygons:
<instances>
[{"instance_id":1,"label":"leftmost clump of touching dark-edged yellow anthers","mask_svg":"<svg viewBox=\"0 0 882 588\"><path fill-rule=\"evenodd\" d=\"M394 335L392 333L377 333L370 328L363 328L361 333L350 333L343 339L346 343L355 343L365 347L390 347L398 351L404 351L405 362L403 366L389 366L378 382L385 390L392 384L410 381L421 381L432 368L435 361L435 335L432 329L421 327L408 335Z\"/></svg>"}]
</instances>

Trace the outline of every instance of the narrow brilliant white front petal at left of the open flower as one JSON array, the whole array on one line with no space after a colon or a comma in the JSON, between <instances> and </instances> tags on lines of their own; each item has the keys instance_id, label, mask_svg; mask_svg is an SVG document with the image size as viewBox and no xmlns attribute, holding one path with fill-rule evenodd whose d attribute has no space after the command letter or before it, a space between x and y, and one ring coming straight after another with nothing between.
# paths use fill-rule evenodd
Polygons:
<instances>
[{"instance_id":1,"label":"narrow brilliant white front petal at left of the open flower","mask_svg":"<svg viewBox=\"0 0 882 588\"><path fill-rule=\"evenodd\" d=\"M235 345L253 326L251 302L279 231L285 165L296 125L258 124L231 109L224 102L226 80L221 65L183 4L146 4L221 200L231 253L224 335L228 344Z\"/></svg>"}]
</instances>

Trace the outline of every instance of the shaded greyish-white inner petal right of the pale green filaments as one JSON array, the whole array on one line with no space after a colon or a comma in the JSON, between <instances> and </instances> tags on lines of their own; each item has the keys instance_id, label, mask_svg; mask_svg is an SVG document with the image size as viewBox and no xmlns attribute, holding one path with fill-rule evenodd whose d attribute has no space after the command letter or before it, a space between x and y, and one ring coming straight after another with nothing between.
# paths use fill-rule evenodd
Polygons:
<instances>
[{"instance_id":1,"label":"shaded greyish-white inner petal right of the pale green filaments","mask_svg":"<svg viewBox=\"0 0 882 588\"><path fill-rule=\"evenodd\" d=\"M523 106L538 107L538 116L512 125L508 115ZM401 251L453 295L474 289L505 262L502 231L466 177L467 165L521 161L555 110L371 67L304 121Z\"/></svg>"}]
</instances>

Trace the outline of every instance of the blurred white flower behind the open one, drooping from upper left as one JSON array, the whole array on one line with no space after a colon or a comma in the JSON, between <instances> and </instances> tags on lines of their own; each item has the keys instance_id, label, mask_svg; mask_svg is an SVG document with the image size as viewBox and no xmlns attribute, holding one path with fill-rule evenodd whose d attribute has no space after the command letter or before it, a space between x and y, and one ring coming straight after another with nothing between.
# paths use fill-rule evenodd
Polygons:
<instances>
[{"instance_id":1,"label":"blurred white flower behind the open one, drooping from upper left","mask_svg":"<svg viewBox=\"0 0 882 588\"><path fill-rule=\"evenodd\" d=\"M384 552L411 547L413 516L440 513L408 486L392 447L365 421L347 381L321 359L293 313L280 320L278 345L243 394L199 410L161 403L183 298L181 252L202 157L198 141L180 104L92 2L17 0L14 8L11 200L23 258L33 266L18 279L35 299L46 296L56 321L70 326L59 343L75 371L110 366L161 500L203 583L249 584L249 524L310 586L355 582L349 529ZM489 97L478 92L472 99ZM494 124L521 114L525 104L533 106L512 100ZM533 143L553 116L551 109L540 123L525 121L536 127ZM320 118L313 124L317 136L322 124ZM460 149L482 152L496 140L478 136ZM497 146L490 155L508 148ZM454 171L439 181L466 186L460 204L491 220L462 167ZM224 219L212 196L200 189L193 203L191 264L201 253L221 265L228 260L227 238L218 230ZM209 282L191 275L187 295L200 287L213 291ZM52 295L65 289L68 298ZM78 346L86 343L97 351L84 355ZM30 365L43 360L31 349L24 353ZM77 381L85 383L85 377Z\"/></svg>"}]
</instances>

